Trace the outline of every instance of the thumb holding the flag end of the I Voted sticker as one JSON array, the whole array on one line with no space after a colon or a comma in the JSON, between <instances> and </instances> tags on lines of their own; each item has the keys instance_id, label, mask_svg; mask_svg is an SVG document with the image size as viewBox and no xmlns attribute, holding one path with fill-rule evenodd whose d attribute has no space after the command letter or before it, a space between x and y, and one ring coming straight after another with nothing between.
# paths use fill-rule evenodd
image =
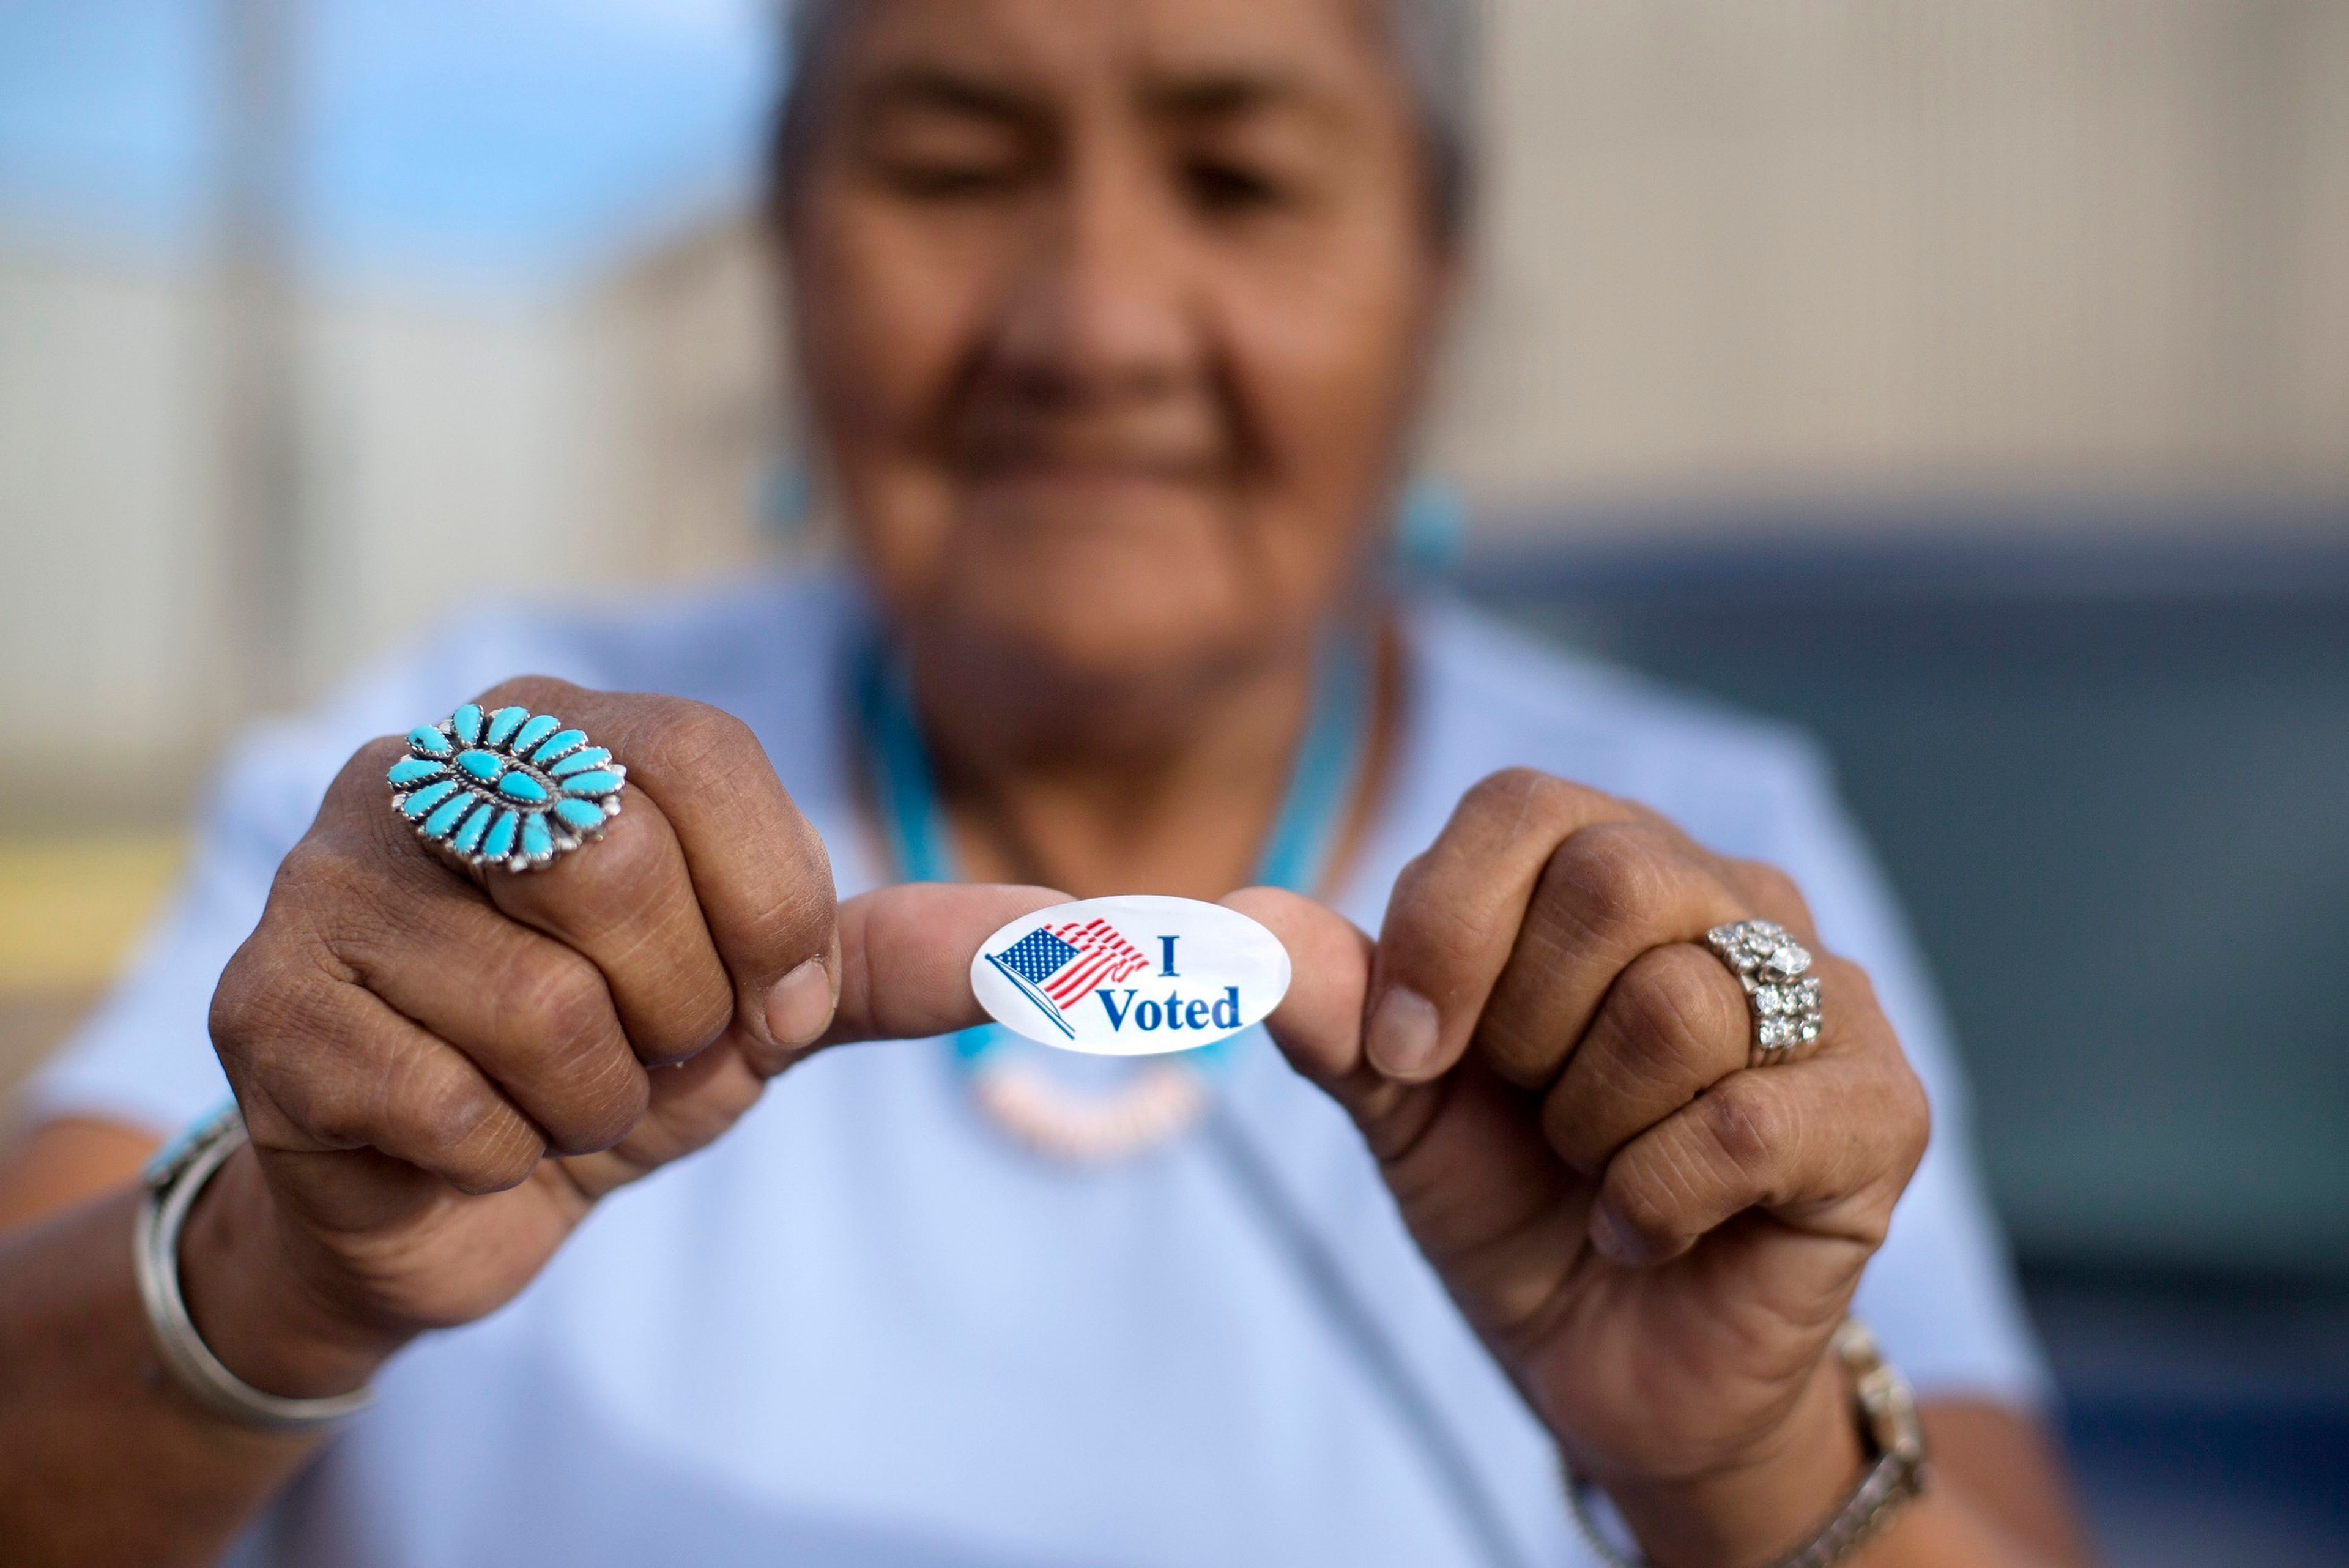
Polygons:
<instances>
[{"instance_id":1,"label":"thumb holding the flag end of the I Voted sticker","mask_svg":"<svg viewBox=\"0 0 2349 1568\"><path fill-rule=\"evenodd\" d=\"M926 1039L987 1023L970 990L980 943L1066 893L1034 886L914 882L841 905L841 997L817 1046Z\"/></svg>"}]
</instances>

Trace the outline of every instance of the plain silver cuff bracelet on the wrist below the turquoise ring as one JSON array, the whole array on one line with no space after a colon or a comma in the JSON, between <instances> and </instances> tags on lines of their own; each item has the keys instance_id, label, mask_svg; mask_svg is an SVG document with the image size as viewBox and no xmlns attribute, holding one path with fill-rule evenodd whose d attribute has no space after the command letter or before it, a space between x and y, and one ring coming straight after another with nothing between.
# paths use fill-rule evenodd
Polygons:
<instances>
[{"instance_id":1,"label":"plain silver cuff bracelet on the wrist below the turquoise ring","mask_svg":"<svg viewBox=\"0 0 2349 1568\"><path fill-rule=\"evenodd\" d=\"M331 1399L287 1399L265 1394L237 1378L188 1319L188 1300L179 1291L179 1232L188 1222L204 1182L228 1164L244 1143L244 1117L235 1100L211 1112L174 1138L141 1173L146 1194L132 1232L132 1265L139 1274L139 1302L146 1307L155 1349L188 1394L214 1415L268 1432L310 1432L331 1427L373 1403L371 1387Z\"/></svg>"}]
</instances>

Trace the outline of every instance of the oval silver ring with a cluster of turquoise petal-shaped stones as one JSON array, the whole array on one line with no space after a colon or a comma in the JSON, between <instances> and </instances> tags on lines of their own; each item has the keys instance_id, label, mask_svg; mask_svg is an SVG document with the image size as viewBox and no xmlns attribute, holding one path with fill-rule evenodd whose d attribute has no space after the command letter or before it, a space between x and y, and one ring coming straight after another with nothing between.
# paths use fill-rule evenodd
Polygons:
<instances>
[{"instance_id":1,"label":"oval silver ring with a cluster of turquoise petal-shaped stones","mask_svg":"<svg viewBox=\"0 0 2349 1568\"><path fill-rule=\"evenodd\" d=\"M526 872L599 837L620 816L627 769L587 733L529 708L465 703L409 731L385 776L392 811L465 865Z\"/></svg>"}]
</instances>

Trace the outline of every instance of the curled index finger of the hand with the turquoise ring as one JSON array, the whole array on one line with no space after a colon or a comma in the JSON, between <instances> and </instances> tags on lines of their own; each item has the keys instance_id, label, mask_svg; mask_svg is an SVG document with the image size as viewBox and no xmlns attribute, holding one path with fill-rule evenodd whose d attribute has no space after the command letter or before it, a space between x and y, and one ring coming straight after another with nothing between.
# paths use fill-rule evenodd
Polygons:
<instances>
[{"instance_id":1,"label":"curled index finger of the hand with the turquoise ring","mask_svg":"<svg viewBox=\"0 0 2349 1568\"><path fill-rule=\"evenodd\" d=\"M747 1039L773 1053L822 1034L839 987L832 860L747 724L686 698L543 677L510 682L486 701L559 712L627 764L622 802L651 799L672 830ZM622 804L611 827L627 816Z\"/></svg>"}]
</instances>

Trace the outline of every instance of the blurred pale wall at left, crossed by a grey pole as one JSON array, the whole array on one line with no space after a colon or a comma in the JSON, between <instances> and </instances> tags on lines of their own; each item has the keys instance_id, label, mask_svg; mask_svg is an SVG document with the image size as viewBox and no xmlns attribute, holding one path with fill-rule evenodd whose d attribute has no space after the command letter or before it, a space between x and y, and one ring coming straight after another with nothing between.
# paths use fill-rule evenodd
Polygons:
<instances>
[{"instance_id":1,"label":"blurred pale wall at left, crossed by a grey pole","mask_svg":"<svg viewBox=\"0 0 2349 1568\"><path fill-rule=\"evenodd\" d=\"M167 818L233 719L211 292L0 252L0 832ZM660 564L594 299L336 296L298 327L301 670Z\"/></svg>"}]
</instances>

